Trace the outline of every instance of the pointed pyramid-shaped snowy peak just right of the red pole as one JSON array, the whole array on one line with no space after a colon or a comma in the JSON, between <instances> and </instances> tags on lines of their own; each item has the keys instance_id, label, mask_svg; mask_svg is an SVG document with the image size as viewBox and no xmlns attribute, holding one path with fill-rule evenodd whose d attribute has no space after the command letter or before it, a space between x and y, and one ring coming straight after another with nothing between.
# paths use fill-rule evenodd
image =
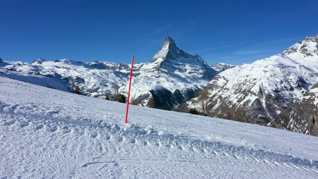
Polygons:
<instances>
[{"instance_id":1,"label":"pointed pyramid-shaped snowy peak just right of the red pole","mask_svg":"<svg viewBox=\"0 0 318 179\"><path fill-rule=\"evenodd\" d=\"M137 64L135 69L133 100L155 108L195 97L217 74L199 55L192 56L177 48L169 36L151 62ZM121 86L121 93L128 93L127 84Z\"/></svg>"}]
</instances>

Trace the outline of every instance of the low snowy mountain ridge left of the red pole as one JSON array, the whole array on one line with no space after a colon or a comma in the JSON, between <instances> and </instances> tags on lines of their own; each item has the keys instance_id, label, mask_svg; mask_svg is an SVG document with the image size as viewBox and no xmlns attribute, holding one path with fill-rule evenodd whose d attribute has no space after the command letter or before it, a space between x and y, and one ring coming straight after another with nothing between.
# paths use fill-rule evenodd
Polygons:
<instances>
[{"instance_id":1,"label":"low snowy mountain ridge left of the red pole","mask_svg":"<svg viewBox=\"0 0 318 179\"><path fill-rule=\"evenodd\" d=\"M8 65L0 68L1 74L5 75L0 74L0 76L30 83L32 83L32 80L28 79L38 78L41 79L42 83L36 83L36 85L64 89L65 91L73 91L75 87L79 87L84 95L93 97L104 98L107 94L116 93L118 92L115 91L116 88L118 90L119 86L129 80L127 74L121 72L122 69L107 69L106 65L100 62L87 64L69 59L54 62L37 59L31 64L7 63ZM128 73L129 69L126 70ZM54 83L51 81L54 81ZM64 88L59 87L60 84L63 84Z\"/></svg>"}]
</instances>

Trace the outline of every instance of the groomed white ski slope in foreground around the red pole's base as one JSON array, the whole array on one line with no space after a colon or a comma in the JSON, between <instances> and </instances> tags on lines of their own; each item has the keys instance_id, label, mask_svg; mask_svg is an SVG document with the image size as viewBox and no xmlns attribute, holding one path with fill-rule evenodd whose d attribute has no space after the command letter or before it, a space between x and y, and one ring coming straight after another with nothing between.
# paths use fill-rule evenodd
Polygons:
<instances>
[{"instance_id":1,"label":"groomed white ski slope in foreground around the red pole's base","mask_svg":"<svg viewBox=\"0 0 318 179\"><path fill-rule=\"evenodd\" d=\"M0 77L0 178L317 179L318 138Z\"/></svg>"}]
</instances>

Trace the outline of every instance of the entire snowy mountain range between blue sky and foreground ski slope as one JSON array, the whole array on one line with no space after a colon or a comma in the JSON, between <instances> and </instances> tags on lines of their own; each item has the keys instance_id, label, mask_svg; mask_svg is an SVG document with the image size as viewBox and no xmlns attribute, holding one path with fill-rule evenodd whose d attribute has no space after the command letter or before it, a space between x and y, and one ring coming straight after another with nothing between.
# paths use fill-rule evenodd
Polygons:
<instances>
[{"instance_id":1,"label":"entire snowy mountain range between blue sky and foreground ski slope","mask_svg":"<svg viewBox=\"0 0 318 179\"><path fill-rule=\"evenodd\" d=\"M130 68L103 61L0 59L0 76L112 100L127 96ZM318 135L317 83L318 35L252 64L212 67L167 36L152 61L134 65L130 101Z\"/></svg>"}]
</instances>

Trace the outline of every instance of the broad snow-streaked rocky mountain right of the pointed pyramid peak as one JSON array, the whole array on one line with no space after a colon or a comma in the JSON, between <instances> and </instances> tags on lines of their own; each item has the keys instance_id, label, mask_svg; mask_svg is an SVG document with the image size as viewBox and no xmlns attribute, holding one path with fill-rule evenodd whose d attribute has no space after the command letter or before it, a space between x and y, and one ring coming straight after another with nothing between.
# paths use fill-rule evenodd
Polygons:
<instances>
[{"instance_id":1,"label":"broad snow-streaked rocky mountain right of the pointed pyramid peak","mask_svg":"<svg viewBox=\"0 0 318 179\"><path fill-rule=\"evenodd\" d=\"M318 36L228 69L189 102L210 116L266 125L318 82Z\"/></svg>"}]
</instances>

